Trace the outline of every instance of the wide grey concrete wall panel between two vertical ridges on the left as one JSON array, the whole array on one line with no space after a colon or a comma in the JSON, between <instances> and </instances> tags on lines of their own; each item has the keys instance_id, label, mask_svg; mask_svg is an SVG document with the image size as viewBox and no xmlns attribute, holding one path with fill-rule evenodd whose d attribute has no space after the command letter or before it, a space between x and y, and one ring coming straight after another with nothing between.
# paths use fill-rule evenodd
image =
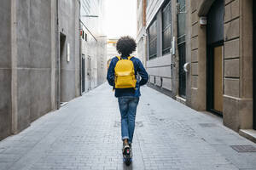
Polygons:
<instances>
[{"instance_id":1,"label":"wide grey concrete wall panel between two vertical ridges on the left","mask_svg":"<svg viewBox=\"0 0 256 170\"><path fill-rule=\"evenodd\" d=\"M51 110L50 1L18 1L17 109L20 131Z\"/></svg>"}]
</instances>

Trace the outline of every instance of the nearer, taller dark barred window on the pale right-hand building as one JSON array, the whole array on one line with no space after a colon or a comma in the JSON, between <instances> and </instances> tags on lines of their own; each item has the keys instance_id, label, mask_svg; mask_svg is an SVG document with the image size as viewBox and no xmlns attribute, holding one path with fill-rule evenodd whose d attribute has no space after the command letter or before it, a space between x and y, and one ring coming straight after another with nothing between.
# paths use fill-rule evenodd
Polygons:
<instances>
[{"instance_id":1,"label":"nearer, taller dark barred window on the pale right-hand building","mask_svg":"<svg viewBox=\"0 0 256 170\"><path fill-rule=\"evenodd\" d=\"M162 53L171 53L171 41L172 41L172 13L171 13L171 1L166 3L166 6L162 9Z\"/></svg>"}]
</instances>

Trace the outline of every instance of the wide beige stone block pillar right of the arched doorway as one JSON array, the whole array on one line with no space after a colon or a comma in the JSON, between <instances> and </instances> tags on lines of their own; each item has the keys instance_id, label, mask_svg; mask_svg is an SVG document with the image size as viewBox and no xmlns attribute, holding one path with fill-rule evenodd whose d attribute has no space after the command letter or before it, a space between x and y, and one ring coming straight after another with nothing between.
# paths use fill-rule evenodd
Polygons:
<instances>
[{"instance_id":1,"label":"wide beige stone block pillar right of the arched doorway","mask_svg":"<svg viewBox=\"0 0 256 170\"><path fill-rule=\"evenodd\" d=\"M224 125L253 128L252 0L225 0Z\"/></svg>"}]
</instances>

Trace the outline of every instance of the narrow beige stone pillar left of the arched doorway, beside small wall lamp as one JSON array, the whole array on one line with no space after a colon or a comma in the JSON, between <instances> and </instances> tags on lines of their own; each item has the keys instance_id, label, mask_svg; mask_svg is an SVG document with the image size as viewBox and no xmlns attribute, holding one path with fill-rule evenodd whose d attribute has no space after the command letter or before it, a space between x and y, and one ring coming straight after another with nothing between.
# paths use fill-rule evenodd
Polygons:
<instances>
[{"instance_id":1,"label":"narrow beige stone pillar left of the arched doorway, beside small wall lamp","mask_svg":"<svg viewBox=\"0 0 256 170\"><path fill-rule=\"evenodd\" d=\"M191 107L197 111L206 111L206 27L199 24L199 4L203 1L190 2L191 26ZM199 48L200 47L200 48Z\"/></svg>"}]
</instances>

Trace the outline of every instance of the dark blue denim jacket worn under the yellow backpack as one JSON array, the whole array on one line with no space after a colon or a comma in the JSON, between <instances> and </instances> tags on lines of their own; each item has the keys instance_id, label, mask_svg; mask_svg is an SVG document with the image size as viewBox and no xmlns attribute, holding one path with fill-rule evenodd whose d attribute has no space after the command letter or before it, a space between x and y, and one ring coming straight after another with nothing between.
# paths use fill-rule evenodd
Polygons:
<instances>
[{"instance_id":1,"label":"dark blue denim jacket worn under the yellow backpack","mask_svg":"<svg viewBox=\"0 0 256 170\"><path fill-rule=\"evenodd\" d=\"M127 58L124 58L127 59ZM116 63L118 62L118 58L114 57L111 60L111 63L109 65L108 68L108 83L110 86L113 86L114 83L114 67L116 65ZM148 82L148 73L145 70L142 62L140 61L140 59L137 59L136 57L132 57L131 61L133 62L134 65L134 70L135 70L135 75L139 74L141 78L141 80L139 80L139 78L137 78L137 83L136 83L136 89L134 88L117 88L115 89L115 97L119 98L119 97L124 97L124 96L131 96L131 97L140 97L141 93L140 93L140 86L143 86L144 84L146 84Z\"/></svg>"}]
</instances>

